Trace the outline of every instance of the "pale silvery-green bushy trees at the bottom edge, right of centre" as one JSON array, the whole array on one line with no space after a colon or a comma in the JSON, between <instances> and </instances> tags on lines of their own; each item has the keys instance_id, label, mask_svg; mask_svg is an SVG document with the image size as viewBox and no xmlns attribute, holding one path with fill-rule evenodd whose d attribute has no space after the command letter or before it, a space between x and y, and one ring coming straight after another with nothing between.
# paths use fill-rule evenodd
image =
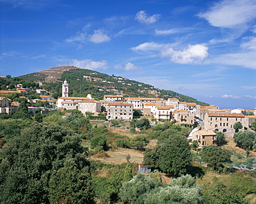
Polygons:
<instances>
[{"instance_id":1,"label":"pale silvery-green bushy trees at the bottom edge, right of centre","mask_svg":"<svg viewBox=\"0 0 256 204\"><path fill-rule=\"evenodd\" d=\"M134 204L203 203L202 189L192 176L181 176L164 185L156 173L137 174L122 185L120 198Z\"/></svg>"}]
</instances>

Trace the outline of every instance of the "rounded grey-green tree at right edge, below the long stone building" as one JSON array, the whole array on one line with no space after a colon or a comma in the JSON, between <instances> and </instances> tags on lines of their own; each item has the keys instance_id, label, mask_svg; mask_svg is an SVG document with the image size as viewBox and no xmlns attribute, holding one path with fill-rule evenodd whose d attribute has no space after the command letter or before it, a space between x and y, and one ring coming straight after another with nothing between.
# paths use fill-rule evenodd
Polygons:
<instances>
[{"instance_id":1,"label":"rounded grey-green tree at right edge, below the long stone building","mask_svg":"<svg viewBox=\"0 0 256 204\"><path fill-rule=\"evenodd\" d=\"M256 132L253 131L239 131L234 135L234 142L237 143L238 147L243 149L252 149L253 141L255 140Z\"/></svg>"}]
</instances>

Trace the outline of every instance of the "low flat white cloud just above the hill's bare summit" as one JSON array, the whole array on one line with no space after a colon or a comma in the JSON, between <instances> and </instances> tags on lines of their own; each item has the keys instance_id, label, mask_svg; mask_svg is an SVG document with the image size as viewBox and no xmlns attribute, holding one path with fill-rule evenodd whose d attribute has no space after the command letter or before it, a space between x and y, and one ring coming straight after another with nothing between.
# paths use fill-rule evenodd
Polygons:
<instances>
[{"instance_id":1,"label":"low flat white cloud just above the hill's bare summit","mask_svg":"<svg viewBox=\"0 0 256 204\"><path fill-rule=\"evenodd\" d=\"M77 59L73 59L73 66L77 66L79 68L88 68L88 69L92 69L92 70L96 70L96 69L107 69L107 61L102 60L102 61L92 61L91 59L84 59L84 60L77 60Z\"/></svg>"}]
</instances>

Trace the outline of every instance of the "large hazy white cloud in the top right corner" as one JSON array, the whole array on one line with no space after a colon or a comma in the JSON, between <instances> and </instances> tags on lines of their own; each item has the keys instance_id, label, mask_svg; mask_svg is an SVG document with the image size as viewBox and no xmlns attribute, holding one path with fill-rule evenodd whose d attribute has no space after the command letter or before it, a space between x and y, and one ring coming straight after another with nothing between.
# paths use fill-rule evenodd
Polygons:
<instances>
[{"instance_id":1,"label":"large hazy white cloud in the top right corner","mask_svg":"<svg viewBox=\"0 0 256 204\"><path fill-rule=\"evenodd\" d=\"M255 19L255 13L255 0L224 0L215 3L207 12L200 13L199 17L215 27L236 28Z\"/></svg>"}]
</instances>

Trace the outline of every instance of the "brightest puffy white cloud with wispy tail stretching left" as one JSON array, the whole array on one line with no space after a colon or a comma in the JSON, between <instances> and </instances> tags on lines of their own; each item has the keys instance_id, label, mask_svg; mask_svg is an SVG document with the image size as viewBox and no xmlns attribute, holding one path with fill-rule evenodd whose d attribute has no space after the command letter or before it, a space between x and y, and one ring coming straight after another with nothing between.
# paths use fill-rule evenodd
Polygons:
<instances>
[{"instance_id":1,"label":"brightest puffy white cloud with wispy tail stretching left","mask_svg":"<svg viewBox=\"0 0 256 204\"><path fill-rule=\"evenodd\" d=\"M172 62L177 64L198 64L208 57L208 46L205 44L188 45L183 50L174 50L170 44L157 44L147 42L131 48L134 52L158 53L160 57L170 58Z\"/></svg>"}]
</instances>

